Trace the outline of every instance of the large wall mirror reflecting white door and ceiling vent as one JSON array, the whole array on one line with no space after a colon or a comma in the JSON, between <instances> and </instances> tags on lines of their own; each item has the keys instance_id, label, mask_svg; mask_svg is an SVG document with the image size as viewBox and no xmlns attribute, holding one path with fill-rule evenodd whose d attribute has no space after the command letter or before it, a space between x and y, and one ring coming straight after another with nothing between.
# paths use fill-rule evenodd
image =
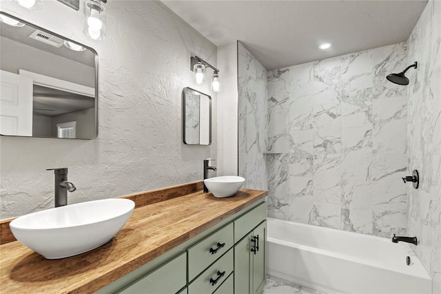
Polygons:
<instances>
[{"instance_id":1,"label":"large wall mirror reflecting white door and ceiling vent","mask_svg":"<svg viewBox=\"0 0 441 294\"><path fill-rule=\"evenodd\" d=\"M10 14L0 20L0 134L95 138L96 52Z\"/></svg>"}]
</instances>

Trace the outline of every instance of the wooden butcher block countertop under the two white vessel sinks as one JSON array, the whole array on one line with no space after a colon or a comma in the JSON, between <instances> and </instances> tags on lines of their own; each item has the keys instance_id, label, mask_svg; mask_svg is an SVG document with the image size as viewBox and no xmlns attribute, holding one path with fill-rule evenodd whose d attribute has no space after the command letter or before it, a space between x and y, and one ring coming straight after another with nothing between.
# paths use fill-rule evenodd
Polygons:
<instances>
[{"instance_id":1,"label":"wooden butcher block countertop under the two white vessel sinks","mask_svg":"<svg viewBox=\"0 0 441 294\"><path fill-rule=\"evenodd\" d=\"M0 293L92 293L267 194L240 189L233 197L215 198L192 191L201 187L202 182L194 182L124 196L135 201L136 209L123 229L107 244L71 258L46 260L20 242L2 244ZM182 191L192 193L181 196ZM1 229L6 230L6 222Z\"/></svg>"}]
</instances>

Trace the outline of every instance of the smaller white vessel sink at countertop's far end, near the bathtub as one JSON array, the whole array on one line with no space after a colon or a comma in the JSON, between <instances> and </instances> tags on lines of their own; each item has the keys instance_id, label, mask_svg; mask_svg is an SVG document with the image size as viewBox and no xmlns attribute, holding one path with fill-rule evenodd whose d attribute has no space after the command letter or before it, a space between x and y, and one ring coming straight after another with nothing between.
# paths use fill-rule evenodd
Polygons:
<instances>
[{"instance_id":1,"label":"smaller white vessel sink at countertop's far end, near the bathtub","mask_svg":"<svg viewBox=\"0 0 441 294\"><path fill-rule=\"evenodd\" d=\"M218 176L204 180L205 186L218 198L234 195L242 187L243 182L245 178L240 176Z\"/></svg>"}]
</instances>

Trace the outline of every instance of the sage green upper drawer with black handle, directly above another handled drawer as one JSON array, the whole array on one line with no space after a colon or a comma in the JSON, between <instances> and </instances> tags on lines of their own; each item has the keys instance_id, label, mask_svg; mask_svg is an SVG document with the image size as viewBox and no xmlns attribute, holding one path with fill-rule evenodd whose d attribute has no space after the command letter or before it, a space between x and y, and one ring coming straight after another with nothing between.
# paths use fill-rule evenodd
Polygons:
<instances>
[{"instance_id":1,"label":"sage green upper drawer with black handle, directly above another handled drawer","mask_svg":"<svg viewBox=\"0 0 441 294\"><path fill-rule=\"evenodd\" d=\"M234 245L233 227L230 223L188 249L189 281Z\"/></svg>"}]
</instances>

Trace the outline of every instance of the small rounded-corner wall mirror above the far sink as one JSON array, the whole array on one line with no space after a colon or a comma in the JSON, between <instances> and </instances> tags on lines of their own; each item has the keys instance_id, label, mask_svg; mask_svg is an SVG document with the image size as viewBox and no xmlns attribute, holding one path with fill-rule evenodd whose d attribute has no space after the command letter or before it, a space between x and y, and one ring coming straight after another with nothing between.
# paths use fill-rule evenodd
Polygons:
<instances>
[{"instance_id":1,"label":"small rounded-corner wall mirror above the far sink","mask_svg":"<svg viewBox=\"0 0 441 294\"><path fill-rule=\"evenodd\" d=\"M183 90L183 139L188 145L212 143L212 97L189 87Z\"/></svg>"}]
</instances>

